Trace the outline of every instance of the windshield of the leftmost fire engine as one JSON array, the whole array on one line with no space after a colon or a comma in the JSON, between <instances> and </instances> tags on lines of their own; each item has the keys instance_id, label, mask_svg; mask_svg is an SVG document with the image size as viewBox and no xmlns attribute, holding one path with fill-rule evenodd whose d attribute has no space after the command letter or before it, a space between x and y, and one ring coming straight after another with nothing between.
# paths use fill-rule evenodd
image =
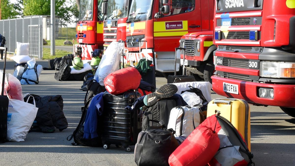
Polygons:
<instances>
[{"instance_id":1,"label":"windshield of the leftmost fire engine","mask_svg":"<svg viewBox=\"0 0 295 166\"><path fill-rule=\"evenodd\" d=\"M93 0L80 0L79 20L92 20Z\"/></svg>"}]
</instances>

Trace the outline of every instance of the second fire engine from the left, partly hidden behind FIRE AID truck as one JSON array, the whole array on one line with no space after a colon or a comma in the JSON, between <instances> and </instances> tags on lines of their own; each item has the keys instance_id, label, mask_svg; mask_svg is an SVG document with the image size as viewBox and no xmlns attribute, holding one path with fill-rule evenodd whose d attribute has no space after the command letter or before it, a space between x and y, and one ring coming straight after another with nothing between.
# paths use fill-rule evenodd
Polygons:
<instances>
[{"instance_id":1,"label":"second fire engine from the left, partly hidden behind FIRE AID truck","mask_svg":"<svg viewBox=\"0 0 295 166\"><path fill-rule=\"evenodd\" d=\"M104 51L113 41L125 42L131 0L104 0Z\"/></svg>"}]
</instances>

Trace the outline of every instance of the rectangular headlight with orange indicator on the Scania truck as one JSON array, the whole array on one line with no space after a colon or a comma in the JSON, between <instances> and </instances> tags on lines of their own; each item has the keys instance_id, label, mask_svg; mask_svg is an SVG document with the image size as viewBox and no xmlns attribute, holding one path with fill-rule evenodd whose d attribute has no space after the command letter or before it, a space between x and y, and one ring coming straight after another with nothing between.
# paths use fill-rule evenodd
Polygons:
<instances>
[{"instance_id":1,"label":"rectangular headlight with orange indicator on the Scania truck","mask_svg":"<svg viewBox=\"0 0 295 166\"><path fill-rule=\"evenodd\" d=\"M295 62L260 62L260 76L295 78Z\"/></svg>"}]
</instances>

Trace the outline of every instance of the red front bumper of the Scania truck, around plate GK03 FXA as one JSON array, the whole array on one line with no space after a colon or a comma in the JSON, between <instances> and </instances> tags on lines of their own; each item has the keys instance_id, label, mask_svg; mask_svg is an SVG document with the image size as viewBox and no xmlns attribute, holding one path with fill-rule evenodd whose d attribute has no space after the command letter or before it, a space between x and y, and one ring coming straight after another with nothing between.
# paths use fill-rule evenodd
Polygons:
<instances>
[{"instance_id":1,"label":"red front bumper of the Scania truck, around plate GK03 FXA","mask_svg":"<svg viewBox=\"0 0 295 166\"><path fill-rule=\"evenodd\" d=\"M248 81L241 81L237 79L221 78L219 76L212 76L212 86L214 92L218 95L244 99L249 103L256 103L259 105L272 105L280 107L295 107L295 85L285 84L264 84ZM239 94L232 94L223 91L223 82L229 84L237 84ZM261 98L258 94L258 88L273 88L273 99Z\"/></svg>"}]
</instances>

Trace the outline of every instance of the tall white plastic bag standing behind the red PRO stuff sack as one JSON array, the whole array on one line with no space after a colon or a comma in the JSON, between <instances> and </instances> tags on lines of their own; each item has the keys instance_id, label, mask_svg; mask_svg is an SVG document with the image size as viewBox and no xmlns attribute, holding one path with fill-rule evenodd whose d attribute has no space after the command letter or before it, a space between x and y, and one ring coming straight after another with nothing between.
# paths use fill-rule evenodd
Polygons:
<instances>
[{"instance_id":1,"label":"tall white plastic bag standing behind the red PRO stuff sack","mask_svg":"<svg viewBox=\"0 0 295 166\"><path fill-rule=\"evenodd\" d=\"M113 41L101 58L99 66L94 75L94 79L101 86L104 86L104 78L110 73L119 70L120 59L123 53L124 44Z\"/></svg>"}]
</instances>

